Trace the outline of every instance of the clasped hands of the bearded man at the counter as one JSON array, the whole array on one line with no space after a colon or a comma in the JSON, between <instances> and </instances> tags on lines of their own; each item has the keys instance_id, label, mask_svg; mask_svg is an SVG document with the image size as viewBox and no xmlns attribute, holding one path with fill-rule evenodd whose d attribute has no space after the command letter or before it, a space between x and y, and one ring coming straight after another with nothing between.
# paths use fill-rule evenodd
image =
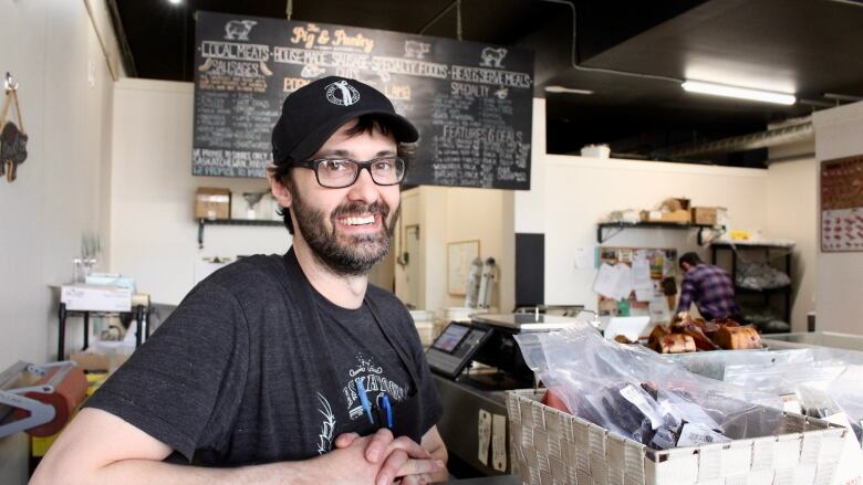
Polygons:
<instances>
[{"instance_id":1,"label":"clasped hands of the bearded man at the counter","mask_svg":"<svg viewBox=\"0 0 863 485\"><path fill-rule=\"evenodd\" d=\"M353 449L357 444L364 447L367 463L381 464L376 485L389 485L399 477L406 485L426 484L432 482L434 473L444 470L444 462L434 460L422 445L407 436L394 437L387 429L366 437L345 433L335 439L336 450Z\"/></svg>"}]
</instances>

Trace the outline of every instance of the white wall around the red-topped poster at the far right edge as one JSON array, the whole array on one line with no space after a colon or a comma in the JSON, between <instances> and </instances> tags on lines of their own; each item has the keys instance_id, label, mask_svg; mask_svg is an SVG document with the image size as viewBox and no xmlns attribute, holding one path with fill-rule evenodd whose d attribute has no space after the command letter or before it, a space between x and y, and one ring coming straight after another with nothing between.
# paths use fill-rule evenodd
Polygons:
<instances>
[{"instance_id":1,"label":"white wall around the red-topped poster at the far right edge","mask_svg":"<svg viewBox=\"0 0 863 485\"><path fill-rule=\"evenodd\" d=\"M819 166L823 160L863 155L863 103L818 112L812 118ZM813 183L818 187L819 182ZM820 241L817 244L818 329L863 335L859 312L863 253L822 253Z\"/></svg>"}]
</instances>

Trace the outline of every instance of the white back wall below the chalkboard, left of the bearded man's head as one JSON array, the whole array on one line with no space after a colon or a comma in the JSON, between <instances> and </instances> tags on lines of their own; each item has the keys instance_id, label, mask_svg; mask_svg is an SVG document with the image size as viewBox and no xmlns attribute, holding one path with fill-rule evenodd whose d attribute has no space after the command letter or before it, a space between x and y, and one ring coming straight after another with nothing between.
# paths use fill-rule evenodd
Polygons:
<instances>
[{"instance_id":1,"label":"white back wall below the chalkboard, left of the bearded man's head","mask_svg":"<svg viewBox=\"0 0 863 485\"><path fill-rule=\"evenodd\" d=\"M195 190L267 189L263 179L193 177L191 83L122 80L114 91L111 270L135 277L154 302L177 304L200 257L283 253L284 226L205 228L198 249Z\"/></svg>"}]
</instances>

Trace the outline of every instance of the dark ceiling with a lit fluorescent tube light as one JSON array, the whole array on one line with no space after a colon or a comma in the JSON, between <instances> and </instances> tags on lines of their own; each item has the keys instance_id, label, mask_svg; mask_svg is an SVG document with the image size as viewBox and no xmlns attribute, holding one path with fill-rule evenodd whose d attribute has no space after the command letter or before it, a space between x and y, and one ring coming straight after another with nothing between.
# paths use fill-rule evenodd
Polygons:
<instances>
[{"instance_id":1,"label":"dark ceiling with a lit fluorescent tube light","mask_svg":"<svg viewBox=\"0 0 863 485\"><path fill-rule=\"evenodd\" d=\"M126 67L191 81L194 12L285 18L285 0L107 0ZM530 48L554 154L669 147L760 131L863 99L863 0L461 0L466 41ZM292 20L457 36L454 0L293 0ZM575 28L573 31L573 27ZM574 49L573 49L574 46ZM628 73L628 74L627 74ZM686 93L685 78L796 93L791 106ZM545 93L547 86L592 91ZM763 167L766 149L680 161Z\"/></svg>"}]
</instances>

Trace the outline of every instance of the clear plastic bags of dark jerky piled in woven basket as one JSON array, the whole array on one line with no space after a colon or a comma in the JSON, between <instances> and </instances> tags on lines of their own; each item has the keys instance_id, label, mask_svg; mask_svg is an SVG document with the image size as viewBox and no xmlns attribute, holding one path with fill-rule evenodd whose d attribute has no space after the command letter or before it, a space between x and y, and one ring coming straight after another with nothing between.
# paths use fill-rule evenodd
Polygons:
<instances>
[{"instance_id":1,"label":"clear plastic bags of dark jerky piled in woven basket","mask_svg":"<svg viewBox=\"0 0 863 485\"><path fill-rule=\"evenodd\" d=\"M682 433L708 440L772 435L777 396L683 370L637 346L605 340L590 325L516 336L524 361L573 414L657 450ZM717 437L719 436L719 437Z\"/></svg>"}]
</instances>

